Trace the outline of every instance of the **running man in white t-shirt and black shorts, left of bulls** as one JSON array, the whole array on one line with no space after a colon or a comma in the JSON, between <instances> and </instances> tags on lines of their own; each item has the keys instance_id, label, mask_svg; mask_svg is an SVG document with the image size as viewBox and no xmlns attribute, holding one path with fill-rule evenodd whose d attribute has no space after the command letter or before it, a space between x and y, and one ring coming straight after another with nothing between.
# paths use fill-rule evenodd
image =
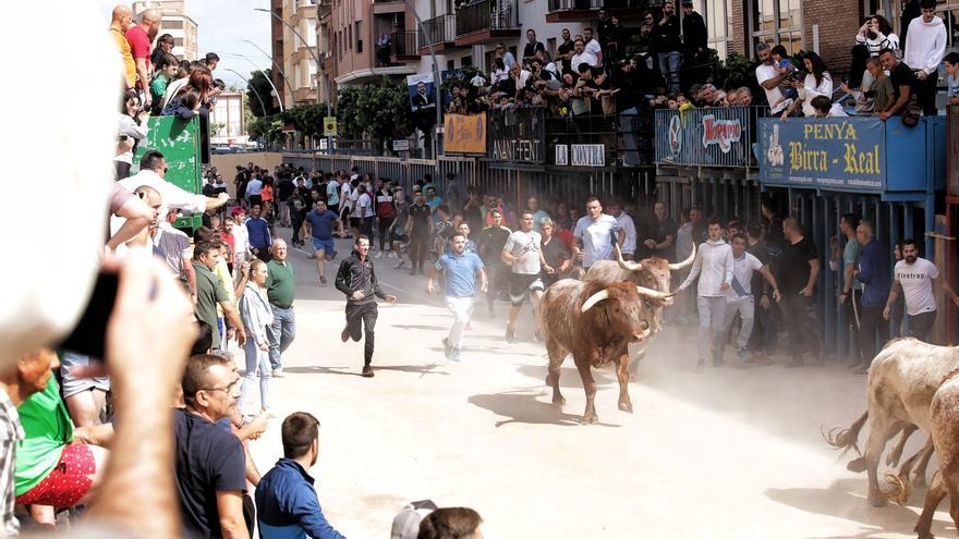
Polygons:
<instances>
[{"instance_id":1,"label":"running man in white t-shirt and black shorts, left of bulls","mask_svg":"<svg viewBox=\"0 0 959 539\"><path fill-rule=\"evenodd\" d=\"M543 241L538 232L533 231L533 212L523 211L520 230L513 232L502 246L500 259L511 269L509 277L510 311L506 324L506 342L515 339L514 329L517 315L526 296L533 296L534 335L539 340L539 301L543 298L543 280L539 279L541 268L546 264L543 259Z\"/></svg>"}]
</instances>

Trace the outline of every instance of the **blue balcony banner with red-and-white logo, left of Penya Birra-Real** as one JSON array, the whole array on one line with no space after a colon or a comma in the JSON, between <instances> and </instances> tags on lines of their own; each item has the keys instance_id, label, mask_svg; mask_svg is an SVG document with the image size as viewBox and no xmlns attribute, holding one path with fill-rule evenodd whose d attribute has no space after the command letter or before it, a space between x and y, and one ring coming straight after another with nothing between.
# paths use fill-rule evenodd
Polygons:
<instances>
[{"instance_id":1,"label":"blue balcony banner with red-and-white logo, left of Penya Birra-Real","mask_svg":"<svg viewBox=\"0 0 959 539\"><path fill-rule=\"evenodd\" d=\"M752 145L767 107L655 111L655 162L701 167L755 167Z\"/></svg>"}]
</instances>

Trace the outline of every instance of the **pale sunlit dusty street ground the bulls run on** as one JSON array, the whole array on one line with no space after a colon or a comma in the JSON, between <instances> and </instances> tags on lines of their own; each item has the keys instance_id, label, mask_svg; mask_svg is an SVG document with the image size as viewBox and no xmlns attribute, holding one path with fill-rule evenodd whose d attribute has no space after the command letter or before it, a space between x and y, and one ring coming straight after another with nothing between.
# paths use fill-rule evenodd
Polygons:
<instances>
[{"instance_id":1,"label":"pale sunlit dusty street ground the bulls run on","mask_svg":"<svg viewBox=\"0 0 959 539\"><path fill-rule=\"evenodd\" d=\"M344 296L333 286L350 245L338 242L326 286L308 253L291 249L296 340L286 376L271 381L277 419L251 444L266 473L282 455L282 418L319 418L313 475L324 513L345 536L386 538L404 502L428 498L475 509L489 538L914 537L925 491L906 507L872 507L865 475L847 471L851 456L837 461L822 439L821 426L847 427L865 407L865 378L843 366L785 369L778 357L697 375L696 328L668 326L630 383L634 413L617 408L615 373L594 370L599 424L581 426L585 397L571 358L561 375L567 404L550 404L529 306L510 345L507 305L490 320L481 302L462 360L448 362L441 296L383 258L377 277L399 304L380 304L376 377L361 378L363 344L340 342ZM924 442L916 434L907 453ZM933 532L955 537L942 509Z\"/></svg>"}]
</instances>

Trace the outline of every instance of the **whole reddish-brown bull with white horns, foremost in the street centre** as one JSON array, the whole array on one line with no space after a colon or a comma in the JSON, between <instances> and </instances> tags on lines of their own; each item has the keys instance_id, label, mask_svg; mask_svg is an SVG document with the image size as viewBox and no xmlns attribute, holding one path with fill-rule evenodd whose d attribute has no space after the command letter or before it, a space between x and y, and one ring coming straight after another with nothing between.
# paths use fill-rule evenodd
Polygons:
<instances>
[{"instance_id":1,"label":"whole reddish-brown bull with white horns, foremost in the street centre","mask_svg":"<svg viewBox=\"0 0 959 539\"><path fill-rule=\"evenodd\" d=\"M597 421L593 405L596 382L591 368L609 363L617 367L619 409L632 413L627 387L628 346L650 338L658 327L656 309L669 297L670 294L630 282L563 279L550 286L539 304L539 320L549 354L546 383L553 385L553 403L566 403L559 390L559 371L566 356L572 354L586 393L582 422Z\"/></svg>"}]
</instances>

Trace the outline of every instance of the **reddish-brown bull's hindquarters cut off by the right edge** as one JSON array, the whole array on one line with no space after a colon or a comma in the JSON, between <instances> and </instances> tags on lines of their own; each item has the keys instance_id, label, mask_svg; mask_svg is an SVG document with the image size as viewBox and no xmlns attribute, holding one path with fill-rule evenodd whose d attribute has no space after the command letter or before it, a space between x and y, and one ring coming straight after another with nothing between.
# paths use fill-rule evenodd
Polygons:
<instances>
[{"instance_id":1,"label":"reddish-brown bull's hindquarters cut off by the right edge","mask_svg":"<svg viewBox=\"0 0 959 539\"><path fill-rule=\"evenodd\" d=\"M932 539L933 513L949 495L949 515L959 527L959 378L954 370L936 390L930 404L930 436L939 455L939 471L925 494L922 514L915 524L919 539Z\"/></svg>"}]
</instances>

